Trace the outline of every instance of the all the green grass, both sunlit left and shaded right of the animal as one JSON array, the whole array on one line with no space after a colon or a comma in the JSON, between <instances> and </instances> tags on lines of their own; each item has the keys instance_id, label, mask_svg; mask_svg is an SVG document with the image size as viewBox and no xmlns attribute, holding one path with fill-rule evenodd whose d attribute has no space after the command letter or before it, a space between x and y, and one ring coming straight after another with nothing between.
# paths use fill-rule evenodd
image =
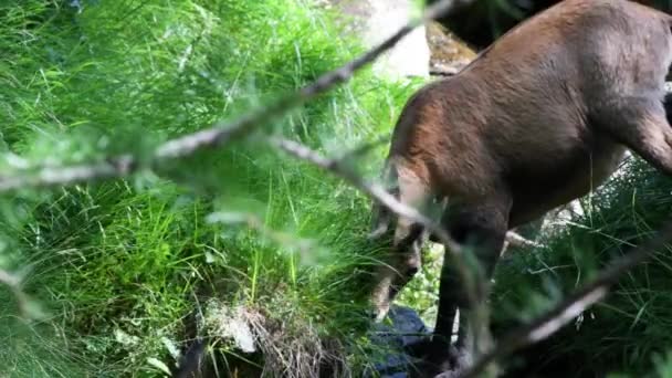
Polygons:
<instances>
[{"instance_id":1,"label":"all the green grass, both sunlit left and shaded right of the animal","mask_svg":"<svg viewBox=\"0 0 672 378\"><path fill-rule=\"evenodd\" d=\"M1 176L119 153L146 157L162 140L233 119L363 51L308 0L80 2L81 12L70 1L0 4ZM222 376L255 365L300 376L319 363L358 376L379 353L361 315L367 271L381 252L365 238L369 201L258 137L282 134L339 155L388 135L421 84L365 70L252 138L164 166L159 176L0 195L0 267L24 277L30 298L25 307L0 286L0 375L162 376L203 311L199 333L213 337L208 356ZM384 154L354 164L372 177ZM648 238L672 210L671 190L670 179L634 164L548 249L504 261L493 296L498 329L538 314ZM428 321L437 261L429 256L399 298ZM578 329L535 351L557 356L570 375L669 376L671 269L669 251L659 251ZM240 308L260 333L276 335L262 343L265 360L217 337L218 322Z\"/></svg>"}]
</instances>

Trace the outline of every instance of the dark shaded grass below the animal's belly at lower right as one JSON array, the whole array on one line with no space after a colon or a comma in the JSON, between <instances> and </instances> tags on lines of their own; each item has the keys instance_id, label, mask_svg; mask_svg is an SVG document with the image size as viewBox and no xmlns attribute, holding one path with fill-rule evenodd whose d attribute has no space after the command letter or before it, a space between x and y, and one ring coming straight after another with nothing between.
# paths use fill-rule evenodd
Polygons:
<instances>
[{"instance_id":1,"label":"dark shaded grass below the animal's belly at lower right","mask_svg":"<svg viewBox=\"0 0 672 378\"><path fill-rule=\"evenodd\" d=\"M519 251L501 264L493 297L500 308L498 329L539 314L629 246L650 239L672 210L671 188L670 178L632 158L623 176L584 199L585 216L546 238L547 248ZM548 364L549 371L563 369L567 376L670 376L655 371L664 370L661 358L672 346L671 269L670 249L654 251L651 261L623 276L606 301L529 354L538 357L537 364Z\"/></svg>"}]
</instances>

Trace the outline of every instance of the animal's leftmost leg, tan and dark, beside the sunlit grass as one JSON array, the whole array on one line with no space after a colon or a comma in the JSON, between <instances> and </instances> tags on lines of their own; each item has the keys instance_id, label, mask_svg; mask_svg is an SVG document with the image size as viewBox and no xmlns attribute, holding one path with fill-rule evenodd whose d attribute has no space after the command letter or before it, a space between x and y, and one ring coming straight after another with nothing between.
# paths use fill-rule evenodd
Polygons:
<instances>
[{"instance_id":1,"label":"animal's leftmost leg, tan and dark, beside the sunlit grass","mask_svg":"<svg viewBox=\"0 0 672 378\"><path fill-rule=\"evenodd\" d=\"M399 201L424 212L431 199L428 186L410 170L399 169L397 174ZM420 223L406 217L397 219L390 256L386 261L387 264L379 266L376 272L372 302L377 321L387 315L397 293L420 270L423 241L424 229Z\"/></svg>"}]
</instances>

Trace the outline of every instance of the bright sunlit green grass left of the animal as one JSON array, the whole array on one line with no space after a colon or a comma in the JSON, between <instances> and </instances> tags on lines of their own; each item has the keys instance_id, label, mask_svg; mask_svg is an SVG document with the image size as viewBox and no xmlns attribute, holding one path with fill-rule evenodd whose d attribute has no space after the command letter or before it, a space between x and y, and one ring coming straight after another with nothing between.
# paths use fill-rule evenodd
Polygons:
<instances>
[{"instance_id":1,"label":"bright sunlit green grass left of the animal","mask_svg":"<svg viewBox=\"0 0 672 378\"><path fill-rule=\"evenodd\" d=\"M361 51L308 1L82 4L0 6L3 175L145 156ZM364 71L265 130L342 153L387 134L418 84ZM160 376L187 315L209 298L259 311L265 325L293 319L279 326L282 343L306 355L315 340L304 332L337 340L329 351L357 369L366 342L356 282L375 256L364 242L369 202L258 139L161 174L0 198L2 266L29 267L23 288L41 306L21 321L3 293L0 312L17 325L0 329L2 375Z\"/></svg>"}]
</instances>

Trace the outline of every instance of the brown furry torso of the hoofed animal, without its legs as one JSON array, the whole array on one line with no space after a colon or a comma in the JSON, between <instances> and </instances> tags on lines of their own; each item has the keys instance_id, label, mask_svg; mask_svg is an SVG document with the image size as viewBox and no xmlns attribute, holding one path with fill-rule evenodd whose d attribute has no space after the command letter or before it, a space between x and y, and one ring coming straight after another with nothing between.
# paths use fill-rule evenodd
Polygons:
<instances>
[{"instance_id":1,"label":"brown furry torso of the hoofed animal, without its legs","mask_svg":"<svg viewBox=\"0 0 672 378\"><path fill-rule=\"evenodd\" d=\"M623 153L596 132L591 106L664 82L641 60L669 64L669 51L638 46L668 38L668 20L624 0L566 0L456 76L419 91L395 128L390 157L441 196L479 201L511 191L512 227L580 197Z\"/></svg>"}]
</instances>

